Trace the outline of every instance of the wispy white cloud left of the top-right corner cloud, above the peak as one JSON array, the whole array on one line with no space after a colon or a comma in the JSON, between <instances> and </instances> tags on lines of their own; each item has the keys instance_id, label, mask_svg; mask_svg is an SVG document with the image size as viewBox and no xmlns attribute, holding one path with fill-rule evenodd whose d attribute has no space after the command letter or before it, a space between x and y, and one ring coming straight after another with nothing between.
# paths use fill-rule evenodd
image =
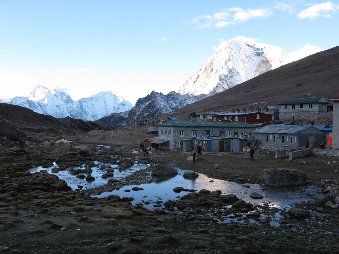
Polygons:
<instances>
[{"instance_id":1,"label":"wispy white cloud left of the top-right corner cloud, above the peak","mask_svg":"<svg viewBox=\"0 0 339 254\"><path fill-rule=\"evenodd\" d=\"M268 17L272 15L272 11L265 8L257 8L257 9L248 9L244 10L239 7L224 9L222 12L216 12L211 15L203 15L192 19L191 23L195 24L195 28L205 28L205 27L226 27L229 25L236 25L238 23L242 23L244 21Z\"/></svg>"}]
</instances>

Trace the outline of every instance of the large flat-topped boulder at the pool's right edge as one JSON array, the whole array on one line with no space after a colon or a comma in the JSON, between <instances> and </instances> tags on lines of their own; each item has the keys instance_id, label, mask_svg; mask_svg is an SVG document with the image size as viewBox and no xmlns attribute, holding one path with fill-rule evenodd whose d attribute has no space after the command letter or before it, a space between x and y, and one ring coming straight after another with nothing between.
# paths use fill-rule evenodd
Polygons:
<instances>
[{"instance_id":1,"label":"large flat-topped boulder at the pool's right edge","mask_svg":"<svg viewBox=\"0 0 339 254\"><path fill-rule=\"evenodd\" d=\"M307 179L306 173L289 168L264 169L260 172L260 182L270 185L303 185Z\"/></svg>"}]
</instances>

